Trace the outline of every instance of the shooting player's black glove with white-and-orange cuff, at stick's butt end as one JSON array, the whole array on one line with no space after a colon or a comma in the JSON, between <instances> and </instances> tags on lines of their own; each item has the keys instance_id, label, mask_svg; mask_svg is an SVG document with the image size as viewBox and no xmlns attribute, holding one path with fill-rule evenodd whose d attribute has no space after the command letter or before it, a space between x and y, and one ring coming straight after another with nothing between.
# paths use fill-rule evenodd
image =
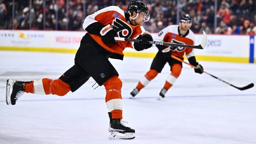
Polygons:
<instances>
[{"instance_id":1,"label":"shooting player's black glove with white-and-orange cuff, at stick's butt end","mask_svg":"<svg viewBox=\"0 0 256 144\"><path fill-rule=\"evenodd\" d=\"M108 24L100 30L101 40L106 44L115 44L116 31Z\"/></svg>"}]
</instances>

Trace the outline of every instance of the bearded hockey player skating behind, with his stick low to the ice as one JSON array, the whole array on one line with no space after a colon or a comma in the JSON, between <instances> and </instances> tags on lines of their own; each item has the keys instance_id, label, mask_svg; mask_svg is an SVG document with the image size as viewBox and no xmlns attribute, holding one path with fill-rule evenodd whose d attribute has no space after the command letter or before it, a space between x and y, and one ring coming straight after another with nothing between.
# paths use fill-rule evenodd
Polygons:
<instances>
[{"instance_id":1,"label":"bearded hockey player skating behind, with his stick low to the ice","mask_svg":"<svg viewBox=\"0 0 256 144\"><path fill-rule=\"evenodd\" d=\"M162 42L194 45L195 35L189 29L190 26L191 18L188 14L184 14L180 18L179 25L170 25L164 28L158 33L156 40ZM154 79L157 74L162 71L164 65L168 62L171 67L171 74L166 78L164 87L161 89L158 99L164 98L166 91L173 86L182 69L182 62L173 59L171 54L183 60L183 55L186 53L186 57L189 63L197 67L195 72L200 74L203 73L203 67L196 61L194 49L185 47L166 47L163 45L156 46L158 47L159 51L153 59L150 70L146 73L145 76L141 78L136 88L131 92L132 97L138 94L142 88L144 88L152 79ZM163 53L162 50L165 52Z\"/></svg>"}]
</instances>

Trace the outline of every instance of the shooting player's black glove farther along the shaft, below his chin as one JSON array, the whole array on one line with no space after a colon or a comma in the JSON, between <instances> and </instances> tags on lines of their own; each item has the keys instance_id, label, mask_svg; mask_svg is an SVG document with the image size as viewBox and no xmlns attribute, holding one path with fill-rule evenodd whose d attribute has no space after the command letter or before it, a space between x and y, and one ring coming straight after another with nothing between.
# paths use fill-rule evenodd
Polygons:
<instances>
[{"instance_id":1,"label":"shooting player's black glove farther along the shaft, below his chin","mask_svg":"<svg viewBox=\"0 0 256 144\"><path fill-rule=\"evenodd\" d=\"M140 42L134 42L134 48L137 51L142 51L144 49L148 49L152 47L152 43L148 43L148 41L153 41L151 34L145 32L142 35L139 35L137 40L141 40Z\"/></svg>"}]
</instances>

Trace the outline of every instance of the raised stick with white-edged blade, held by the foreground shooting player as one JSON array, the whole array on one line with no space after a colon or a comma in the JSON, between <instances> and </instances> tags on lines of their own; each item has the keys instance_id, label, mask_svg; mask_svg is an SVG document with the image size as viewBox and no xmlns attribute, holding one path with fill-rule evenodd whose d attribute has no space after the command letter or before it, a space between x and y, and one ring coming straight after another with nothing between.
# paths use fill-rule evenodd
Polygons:
<instances>
[{"instance_id":1,"label":"raised stick with white-edged blade, held by the foreground shooting player","mask_svg":"<svg viewBox=\"0 0 256 144\"><path fill-rule=\"evenodd\" d=\"M120 38L120 37L115 37L115 40L116 41L128 41L128 42L140 42L141 41L141 40L136 40L136 39L127 39L127 38ZM178 46L189 47L189 48L193 48L193 49L204 49L207 45L207 42L208 42L207 35L204 31L203 31L203 39L199 45L186 45L186 44L170 43L170 42L149 41L149 43L152 43L152 44L175 46L175 47L178 47Z\"/></svg>"}]
</instances>

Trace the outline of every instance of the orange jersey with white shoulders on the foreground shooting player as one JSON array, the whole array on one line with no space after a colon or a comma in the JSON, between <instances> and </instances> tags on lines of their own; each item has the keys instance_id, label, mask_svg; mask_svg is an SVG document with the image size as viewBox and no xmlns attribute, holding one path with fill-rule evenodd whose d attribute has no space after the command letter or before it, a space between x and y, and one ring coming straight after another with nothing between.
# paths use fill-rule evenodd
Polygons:
<instances>
[{"instance_id":1,"label":"orange jersey with white shoulders on the foreground shooting player","mask_svg":"<svg viewBox=\"0 0 256 144\"><path fill-rule=\"evenodd\" d=\"M85 18L83 23L83 29L85 30L90 24L99 22L101 25L106 26L110 24L117 32L117 37L136 39L142 34L145 29L142 26L134 26L129 23L129 17L125 17L124 11L117 6L109 6L103 8L92 15ZM101 36L98 34L88 34L105 50L109 51L115 56L110 58L123 59L123 50L126 47L134 49L134 42L118 41L114 45L105 44L101 40Z\"/></svg>"}]
</instances>

